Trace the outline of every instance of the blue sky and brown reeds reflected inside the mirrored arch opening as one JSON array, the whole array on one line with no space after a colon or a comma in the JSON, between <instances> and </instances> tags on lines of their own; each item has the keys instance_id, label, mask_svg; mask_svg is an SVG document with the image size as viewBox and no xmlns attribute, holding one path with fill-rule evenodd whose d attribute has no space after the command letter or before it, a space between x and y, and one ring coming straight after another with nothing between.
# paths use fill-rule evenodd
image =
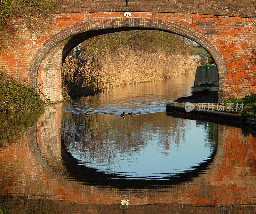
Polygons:
<instances>
[{"instance_id":1,"label":"blue sky and brown reeds reflected inside the mirrored arch opening","mask_svg":"<svg viewBox=\"0 0 256 214\"><path fill-rule=\"evenodd\" d=\"M167 117L165 112L125 120L103 114L70 120L65 115L62 139L79 164L125 178L161 179L192 171L217 145L216 124Z\"/></svg>"}]
</instances>

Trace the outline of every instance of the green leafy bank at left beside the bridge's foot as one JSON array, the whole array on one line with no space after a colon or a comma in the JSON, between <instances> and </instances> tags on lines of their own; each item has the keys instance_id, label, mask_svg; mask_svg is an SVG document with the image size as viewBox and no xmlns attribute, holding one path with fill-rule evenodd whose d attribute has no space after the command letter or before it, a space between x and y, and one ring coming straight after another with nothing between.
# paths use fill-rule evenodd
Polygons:
<instances>
[{"instance_id":1,"label":"green leafy bank at left beside the bridge's foot","mask_svg":"<svg viewBox=\"0 0 256 214\"><path fill-rule=\"evenodd\" d=\"M0 112L35 111L44 105L37 92L0 70Z\"/></svg>"}]
</instances>

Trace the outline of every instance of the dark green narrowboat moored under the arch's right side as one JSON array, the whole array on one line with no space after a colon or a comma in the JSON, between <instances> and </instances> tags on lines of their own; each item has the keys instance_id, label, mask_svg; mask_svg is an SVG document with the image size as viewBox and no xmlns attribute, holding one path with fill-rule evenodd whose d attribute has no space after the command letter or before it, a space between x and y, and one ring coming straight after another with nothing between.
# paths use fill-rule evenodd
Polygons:
<instances>
[{"instance_id":1,"label":"dark green narrowboat moored under the arch's right side","mask_svg":"<svg viewBox=\"0 0 256 214\"><path fill-rule=\"evenodd\" d=\"M203 65L196 68L192 95L218 93L218 70L216 65Z\"/></svg>"}]
</instances>

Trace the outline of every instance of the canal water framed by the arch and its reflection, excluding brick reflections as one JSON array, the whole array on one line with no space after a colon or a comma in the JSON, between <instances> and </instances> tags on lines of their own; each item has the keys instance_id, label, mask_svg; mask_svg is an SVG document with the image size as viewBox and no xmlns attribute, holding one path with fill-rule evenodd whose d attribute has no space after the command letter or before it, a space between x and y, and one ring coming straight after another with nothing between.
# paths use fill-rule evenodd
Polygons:
<instances>
[{"instance_id":1,"label":"canal water framed by the arch and its reflection, excluding brick reflections","mask_svg":"<svg viewBox=\"0 0 256 214\"><path fill-rule=\"evenodd\" d=\"M193 75L185 75L120 86L67 104L67 113L84 114L88 110L91 114L63 120L68 152L79 164L125 178L161 179L195 169L212 155L217 133L209 139L206 123L163 119L167 118L165 113L147 114L163 112L166 104L190 95L192 84ZM131 111L133 118L114 116Z\"/></svg>"}]
</instances>

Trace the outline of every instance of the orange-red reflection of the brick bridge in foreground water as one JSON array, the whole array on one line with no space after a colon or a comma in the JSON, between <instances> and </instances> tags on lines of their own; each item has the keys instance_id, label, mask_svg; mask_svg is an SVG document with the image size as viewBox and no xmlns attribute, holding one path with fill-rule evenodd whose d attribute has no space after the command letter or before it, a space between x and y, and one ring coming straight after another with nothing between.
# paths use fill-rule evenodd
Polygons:
<instances>
[{"instance_id":1,"label":"orange-red reflection of the brick bridge in foreground water","mask_svg":"<svg viewBox=\"0 0 256 214\"><path fill-rule=\"evenodd\" d=\"M239 128L218 125L218 149L205 173L175 187L158 189L163 191L122 191L87 186L69 178L61 159L60 124L60 111L55 114L45 111L37 123L37 132L31 131L3 149L0 162L7 162L12 170L2 168L0 176L13 178L12 182L5 181L3 194L30 194L35 198L44 195L53 200L86 204L121 204L122 199L129 199L131 205L255 202L256 139L245 138ZM18 162L26 163L26 167L19 168L15 164Z\"/></svg>"}]
</instances>

